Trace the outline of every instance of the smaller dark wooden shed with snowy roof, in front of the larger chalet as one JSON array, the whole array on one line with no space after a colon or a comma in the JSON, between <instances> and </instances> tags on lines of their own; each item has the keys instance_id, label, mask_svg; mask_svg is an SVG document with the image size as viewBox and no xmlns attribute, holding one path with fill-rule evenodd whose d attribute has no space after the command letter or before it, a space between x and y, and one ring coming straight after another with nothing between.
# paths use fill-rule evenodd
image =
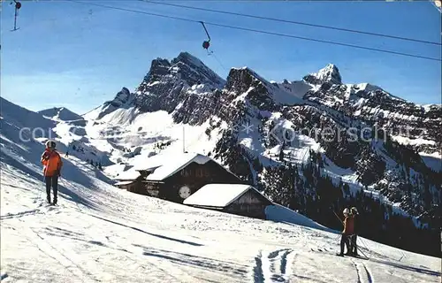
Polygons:
<instances>
[{"instance_id":1,"label":"smaller dark wooden shed with snowy roof, in front of the larger chalet","mask_svg":"<svg viewBox=\"0 0 442 283\"><path fill-rule=\"evenodd\" d=\"M273 204L255 187L243 184L209 184L187 197L183 203L261 219L266 219L265 208Z\"/></svg>"}]
</instances>

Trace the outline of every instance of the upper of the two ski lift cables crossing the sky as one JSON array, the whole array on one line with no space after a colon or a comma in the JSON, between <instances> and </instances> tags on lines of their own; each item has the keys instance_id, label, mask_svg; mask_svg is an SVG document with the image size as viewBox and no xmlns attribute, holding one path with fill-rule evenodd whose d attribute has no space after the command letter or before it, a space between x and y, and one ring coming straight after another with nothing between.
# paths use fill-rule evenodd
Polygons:
<instances>
[{"instance_id":1,"label":"upper of the two ski lift cables crossing the sky","mask_svg":"<svg viewBox=\"0 0 442 283\"><path fill-rule=\"evenodd\" d=\"M147 4L159 4L159 5L166 5L166 6L177 7L177 8L197 10L197 11L217 12L217 13L221 13L221 14L239 16L239 17L245 17L245 18L252 18L252 19L265 19L265 20L277 21L277 22L293 24L293 25L327 28L327 29L339 30L341 32L348 32L348 33L354 33L354 34L366 34L366 35L380 36L380 37L408 41L408 42L420 42L420 43L433 44L433 45L438 45L438 46L442 45L442 43L439 43L439 42L430 42L430 41L424 41L424 40L415 39L415 38L408 38L408 37L403 37L403 36L391 35L391 34L378 34L378 33L365 32L365 31L356 30L356 29L350 29L350 28L316 25L316 24L311 24L311 23L306 23L306 22L301 22L301 21L269 18L269 17L258 16L258 15L251 15L251 14L245 14L245 13L240 13L240 12L234 12L234 11L221 11L221 10L214 10L214 9L208 9L208 8L187 6L187 5L183 5L183 4L171 4L171 3L156 2L156 1L150 1L150 0L138 0L138 1L141 1L141 2L144 2Z\"/></svg>"}]
</instances>

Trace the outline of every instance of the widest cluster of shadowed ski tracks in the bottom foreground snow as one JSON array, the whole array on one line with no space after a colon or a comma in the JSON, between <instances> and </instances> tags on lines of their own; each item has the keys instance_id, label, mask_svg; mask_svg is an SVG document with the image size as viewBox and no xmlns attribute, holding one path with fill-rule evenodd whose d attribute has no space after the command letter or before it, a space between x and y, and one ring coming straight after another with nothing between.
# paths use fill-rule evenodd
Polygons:
<instances>
[{"instance_id":1,"label":"widest cluster of shadowed ski tracks in the bottom foreground snow","mask_svg":"<svg viewBox=\"0 0 442 283\"><path fill-rule=\"evenodd\" d=\"M254 282L289 282L294 256L293 249L277 249L264 256L260 251L255 256Z\"/></svg>"}]
</instances>

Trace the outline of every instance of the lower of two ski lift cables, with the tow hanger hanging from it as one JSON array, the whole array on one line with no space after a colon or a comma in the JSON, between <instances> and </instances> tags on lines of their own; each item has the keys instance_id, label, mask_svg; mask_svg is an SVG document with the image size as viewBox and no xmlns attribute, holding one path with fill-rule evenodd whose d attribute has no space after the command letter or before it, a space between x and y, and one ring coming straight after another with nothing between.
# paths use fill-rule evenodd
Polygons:
<instances>
[{"instance_id":1,"label":"lower of two ski lift cables, with the tow hanger hanging from it","mask_svg":"<svg viewBox=\"0 0 442 283\"><path fill-rule=\"evenodd\" d=\"M113 9L113 10L118 10L118 11L128 11L128 12L140 13L140 14L145 14L145 15L154 16L154 17L160 17L160 18L164 18L164 19L176 19L176 20L183 20L183 21L187 21L187 22L194 22L194 23L201 24L200 20L174 17L174 16L169 16L169 15L164 15L164 14L153 13L153 12L149 12L149 11L133 10L133 9L116 7L116 6L104 5L104 4L95 4L95 3L91 3L91 2L81 2L81 1L76 1L76 0L66 0L66 1L72 2L75 4L93 5L93 6L97 6L97 7ZM360 49L360 50L377 51L377 52L389 53L389 54L394 54L394 55L399 55L399 56L415 57L415 58L421 58L421 59L426 59L426 60L442 62L442 59L436 58L436 57L425 57L425 56L404 53L404 52L399 52L399 51L371 48L371 47L366 47L366 46L362 46L362 45L355 45L355 44L349 44L349 43L343 43L343 42L332 42L332 41L320 40L320 39L315 39L315 38L297 36L297 35L293 35L293 34L281 34L281 33L268 32L268 31L253 29L253 28L248 28L248 27L229 26L229 25L218 24L218 23L207 22L207 21L204 21L204 24L214 26L214 27L225 27L225 28L230 28L230 29L242 30L242 31L256 33L256 34L269 34L269 35L275 35L275 36L286 37L286 38L300 39L300 40L310 41L310 42L322 42L322 43L328 43L328 44L332 44L332 45L351 47L351 48Z\"/></svg>"}]
</instances>

